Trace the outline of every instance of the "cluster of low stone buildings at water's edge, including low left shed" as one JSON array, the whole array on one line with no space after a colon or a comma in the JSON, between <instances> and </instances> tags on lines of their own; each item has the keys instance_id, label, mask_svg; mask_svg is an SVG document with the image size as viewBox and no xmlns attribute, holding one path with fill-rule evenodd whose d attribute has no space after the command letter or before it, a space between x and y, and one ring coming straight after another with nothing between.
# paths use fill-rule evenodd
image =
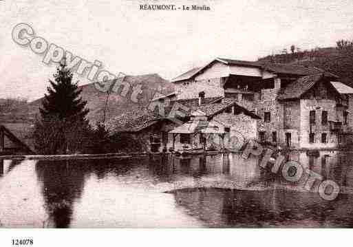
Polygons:
<instances>
[{"instance_id":1,"label":"cluster of low stone buildings at water's edge, including low left shed","mask_svg":"<svg viewBox=\"0 0 353 247\"><path fill-rule=\"evenodd\" d=\"M233 144L234 133L240 133L237 138L256 137L259 116L238 105L234 98L205 98L200 94L176 100L169 94L152 101L156 103L154 114L130 112L124 125L115 124L114 129L131 134L131 141L142 143L145 151L220 150ZM174 110L176 113L171 114Z\"/></svg>"}]
</instances>

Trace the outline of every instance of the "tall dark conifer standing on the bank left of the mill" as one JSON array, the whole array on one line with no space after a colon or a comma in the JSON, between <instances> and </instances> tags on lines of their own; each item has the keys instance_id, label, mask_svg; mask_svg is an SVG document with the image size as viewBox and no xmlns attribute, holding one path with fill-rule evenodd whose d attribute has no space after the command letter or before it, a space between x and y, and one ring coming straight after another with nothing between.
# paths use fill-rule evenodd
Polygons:
<instances>
[{"instance_id":1,"label":"tall dark conifer standing on the bank left of the mill","mask_svg":"<svg viewBox=\"0 0 353 247\"><path fill-rule=\"evenodd\" d=\"M72 83L65 59L53 76L55 80L49 80L51 87L47 87L39 109L40 119L35 122L34 145L43 154L82 151L89 141L90 129L87 102L80 97L82 89Z\"/></svg>"}]
</instances>

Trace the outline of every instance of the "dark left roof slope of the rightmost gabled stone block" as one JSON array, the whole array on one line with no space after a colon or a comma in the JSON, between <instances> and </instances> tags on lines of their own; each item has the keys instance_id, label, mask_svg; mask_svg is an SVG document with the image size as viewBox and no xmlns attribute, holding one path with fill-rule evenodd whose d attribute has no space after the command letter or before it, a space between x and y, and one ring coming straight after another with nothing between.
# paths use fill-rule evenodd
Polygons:
<instances>
[{"instance_id":1,"label":"dark left roof slope of the rightmost gabled stone block","mask_svg":"<svg viewBox=\"0 0 353 247\"><path fill-rule=\"evenodd\" d=\"M310 76L303 76L298 80L293 81L287 85L280 94L277 100L289 100L300 98L305 92L308 92L319 80L325 77L325 73L313 74ZM332 86L332 84L331 84ZM332 88L339 94L335 87Z\"/></svg>"}]
</instances>

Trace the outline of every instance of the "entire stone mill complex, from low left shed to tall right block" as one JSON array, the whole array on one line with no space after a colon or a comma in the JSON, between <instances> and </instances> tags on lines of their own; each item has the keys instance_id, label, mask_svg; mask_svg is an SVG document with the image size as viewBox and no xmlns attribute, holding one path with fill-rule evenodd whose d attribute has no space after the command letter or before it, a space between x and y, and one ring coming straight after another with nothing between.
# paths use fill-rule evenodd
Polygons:
<instances>
[{"instance_id":1,"label":"entire stone mill complex, from low left shed to tall right block","mask_svg":"<svg viewBox=\"0 0 353 247\"><path fill-rule=\"evenodd\" d=\"M215 58L171 83L175 92L118 127L147 151L222 149L239 134L289 149L338 149L352 139L353 89L317 67Z\"/></svg>"}]
</instances>

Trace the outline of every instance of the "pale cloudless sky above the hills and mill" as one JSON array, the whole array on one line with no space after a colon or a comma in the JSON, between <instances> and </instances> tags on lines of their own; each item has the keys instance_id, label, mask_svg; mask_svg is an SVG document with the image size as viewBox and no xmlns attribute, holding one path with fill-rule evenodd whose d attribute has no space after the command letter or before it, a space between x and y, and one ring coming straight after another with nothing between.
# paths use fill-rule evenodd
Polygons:
<instances>
[{"instance_id":1,"label":"pale cloudless sky above the hills and mill","mask_svg":"<svg viewBox=\"0 0 353 247\"><path fill-rule=\"evenodd\" d=\"M140 10L145 3L211 10ZM56 70L12 40L18 23L75 56L101 61L100 69L168 80L215 57L255 61L292 44L306 50L353 39L352 0L3 0L0 13L0 98L39 98ZM74 80L89 83L85 75Z\"/></svg>"}]
</instances>

